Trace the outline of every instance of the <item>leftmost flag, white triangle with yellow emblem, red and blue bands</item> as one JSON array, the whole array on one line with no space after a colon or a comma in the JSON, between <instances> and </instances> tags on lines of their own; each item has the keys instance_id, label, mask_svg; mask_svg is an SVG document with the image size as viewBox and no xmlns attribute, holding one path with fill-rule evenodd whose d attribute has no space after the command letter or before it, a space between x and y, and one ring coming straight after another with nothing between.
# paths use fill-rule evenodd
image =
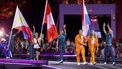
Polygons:
<instances>
[{"instance_id":1,"label":"leftmost flag, white triangle with yellow emblem, red and blue bands","mask_svg":"<svg viewBox=\"0 0 122 69\"><path fill-rule=\"evenodd\" d=\"M12 29L17 29L23 32L24 39L29 40L32 42L32 32L29 28L26 20L24 19L21 11L19 10L18 6L16 8L15 17Z\"/></svg>"}]
</instances>

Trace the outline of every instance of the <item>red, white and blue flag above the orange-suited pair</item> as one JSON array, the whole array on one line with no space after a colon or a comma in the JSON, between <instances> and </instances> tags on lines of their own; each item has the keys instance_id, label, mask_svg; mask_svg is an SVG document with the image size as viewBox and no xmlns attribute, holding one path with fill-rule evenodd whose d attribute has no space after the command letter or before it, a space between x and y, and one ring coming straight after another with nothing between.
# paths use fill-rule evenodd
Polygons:
<instances>
[{"instance_id":1,"label":"red, white and blue flag above the orange-suited pair","mask_svg":"<svg viewBox=\"0 0 122 69\"><path fill-rule=\"evenodd\" d=\"M87 12L84 0L83 0L83 6L82 7L83 7L82 8L82 30L83 30L83 35L87 36L89 31L90 31L89 25L91 24L91 21L90 21L90 18L88 16L88 12Z\"/></svg>"}]
</instances>

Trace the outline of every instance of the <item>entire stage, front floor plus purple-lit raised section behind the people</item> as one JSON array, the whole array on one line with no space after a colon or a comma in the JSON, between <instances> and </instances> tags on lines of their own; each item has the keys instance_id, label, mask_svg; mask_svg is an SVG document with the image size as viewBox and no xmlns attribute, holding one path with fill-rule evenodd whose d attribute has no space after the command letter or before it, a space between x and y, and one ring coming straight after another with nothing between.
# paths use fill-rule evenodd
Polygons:
<instances>
[{"instance_id":1,"label":"entire stage, front floor plus purple-lit raised section behind the people","mask_svg":"<svg viewBox=\"0 0 122 69\"><path fill-rule=\"evenodd\" d=\"M35 54L33 55L33 57ZM41 53L40 60L29 60L28 54L16 54L12 59L0 58L0 69L121 69L122 58L116 58L116 65L104 65L104 58L96 57L96 65L77 65L75 54L64 54L64 63L59 63L59 53ZM89 57L87 57L89 62ZM82 62L82 61L81 61Z\"/></svg>"}]
</instances>

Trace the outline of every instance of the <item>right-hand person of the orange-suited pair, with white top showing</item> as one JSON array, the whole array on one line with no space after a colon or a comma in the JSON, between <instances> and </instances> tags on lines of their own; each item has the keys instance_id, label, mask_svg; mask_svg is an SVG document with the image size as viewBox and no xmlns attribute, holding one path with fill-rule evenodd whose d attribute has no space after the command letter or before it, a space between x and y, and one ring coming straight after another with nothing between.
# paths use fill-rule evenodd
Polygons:
<instances>
[{"instance_id":1,"label":"right-hand person of the orange-suited pair, with white top showing","mask_svg":"<svg viewBox=\"0 0 122 69\"><path fill-rule=\"evenodd\" d=\"M94 30L91 31L90 35L87 37L89 51L90 51L90 65L96 64L95 62L95 52L98 47L98 38L95 35Z\"/></svg>"}]
</instances>

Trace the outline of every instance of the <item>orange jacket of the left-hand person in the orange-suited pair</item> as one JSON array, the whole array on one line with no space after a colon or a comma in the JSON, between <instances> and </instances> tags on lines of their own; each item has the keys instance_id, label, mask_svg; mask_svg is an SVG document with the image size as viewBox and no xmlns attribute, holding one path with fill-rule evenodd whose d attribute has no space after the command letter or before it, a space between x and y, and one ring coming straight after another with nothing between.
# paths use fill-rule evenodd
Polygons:
<instances>
[{"instance_id":1,"label":"orange jacket of the left-hand person in the orange-suited pair","mask_svg":"<svg viewBox=\"0 0 122 69\"><path fill-rule=\"evenodd\" d=\"M84 43L84 36L77 34L76 37L75 37L76 48L78 49L79 47L81 47L84 44L85 44Z\"/></svg>"}]
</instances>

